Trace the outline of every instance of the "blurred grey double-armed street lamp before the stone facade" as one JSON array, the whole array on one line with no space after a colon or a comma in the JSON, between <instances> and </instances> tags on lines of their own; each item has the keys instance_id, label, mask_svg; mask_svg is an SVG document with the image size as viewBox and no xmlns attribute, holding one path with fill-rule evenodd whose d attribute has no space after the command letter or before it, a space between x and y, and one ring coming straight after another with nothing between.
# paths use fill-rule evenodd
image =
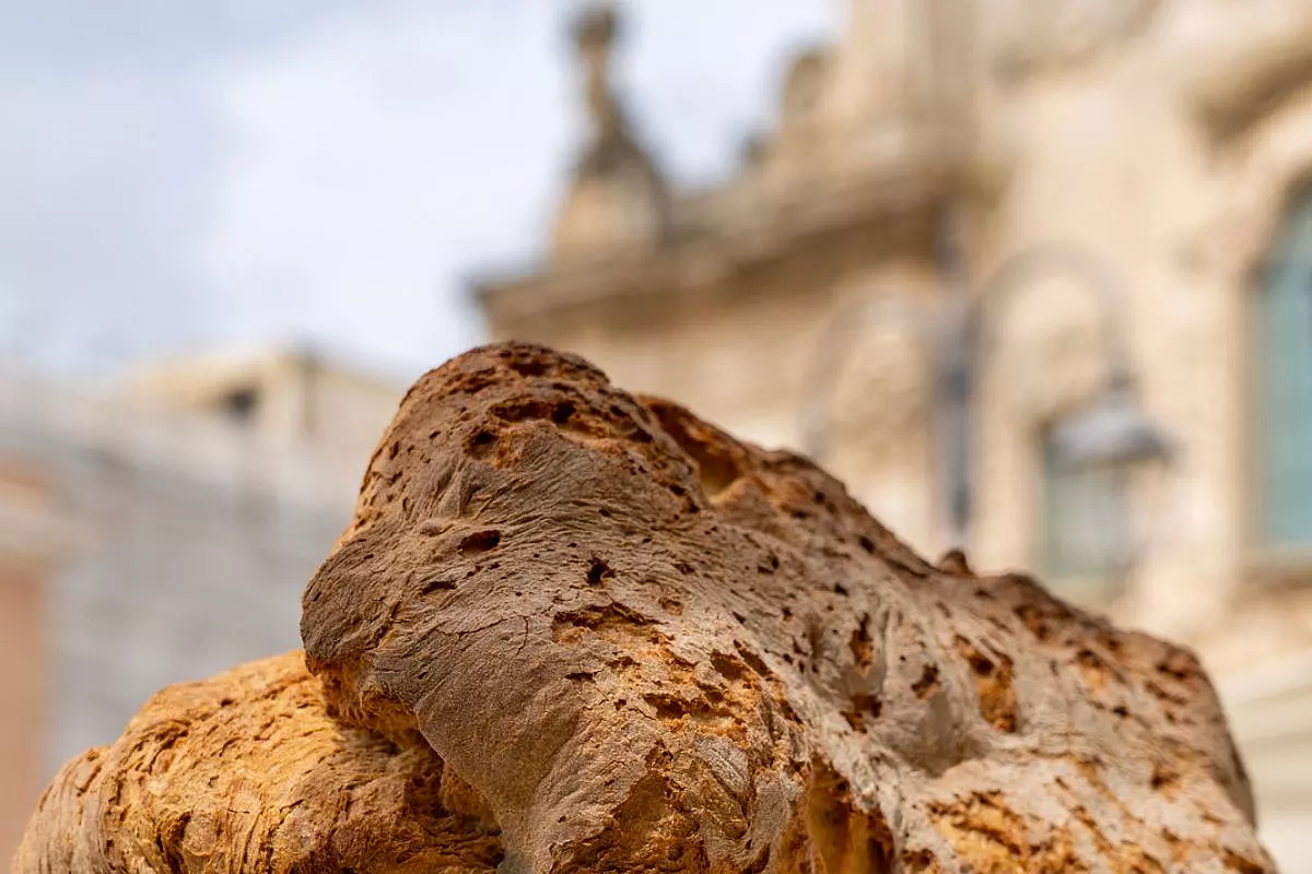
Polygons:
<instances>
[{"instance_id":1,"label":"blurred grey double-armed street lamp before the stone facade","mask_svg":"<svg viewBox=\"0 0 1312 874\"><path fill-rule=\"evenodd\" d=\"M1093 292L1101 318L1107 379L1098 397L1082 411L1064 418L1050 432L1051 461L1068 470L1102 469L1127 477L1149 463L1165 461L1168 438L1139 405L1126 350L1124 290L1089 253L1064 244L1025 250L1004 262L974 295L951 295L930 318L934 410L939 461L946 489L947 528L953 545L964 545L975 511L974 452L977 430L977 384L988 346L987 308L1005 303L1010 291L1040 275L1065 274ZM887 300L887 299L883 299ZM869 312L862 305L863 312ZM861 313L840 311L823 332L812 359L806 408L804 448L816 460L829 449L829 401L836 364L855 342ZM922 322L924 326L924 322Z\"/></svg>"}]
</instances>

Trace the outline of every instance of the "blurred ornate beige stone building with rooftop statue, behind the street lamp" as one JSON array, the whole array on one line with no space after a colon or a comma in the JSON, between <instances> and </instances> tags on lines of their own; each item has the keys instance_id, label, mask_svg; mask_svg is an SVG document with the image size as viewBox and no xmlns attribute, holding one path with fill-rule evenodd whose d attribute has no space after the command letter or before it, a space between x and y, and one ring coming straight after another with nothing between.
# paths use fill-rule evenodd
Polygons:
<instances>
[{"instance_id":1,"label":"blurred ornate beige stone building with rooftop statue, behind the street lamp","mask_svg":"<svg viewBox=\"0 0 1312 874\"><path fill-rule=\"evenodd\" d=\"M626 119L615 28L575 33L592 130L546 262L476 290L492 334L820 455L930 553L939 364L977 339L972 563L1199 649L1312 870L1312 4L850 0L699 191ZM1086 269L1015 269L1054 246ZM1054 464L1119 349L1169 464Z\"/></svg>"}]
</instances>

